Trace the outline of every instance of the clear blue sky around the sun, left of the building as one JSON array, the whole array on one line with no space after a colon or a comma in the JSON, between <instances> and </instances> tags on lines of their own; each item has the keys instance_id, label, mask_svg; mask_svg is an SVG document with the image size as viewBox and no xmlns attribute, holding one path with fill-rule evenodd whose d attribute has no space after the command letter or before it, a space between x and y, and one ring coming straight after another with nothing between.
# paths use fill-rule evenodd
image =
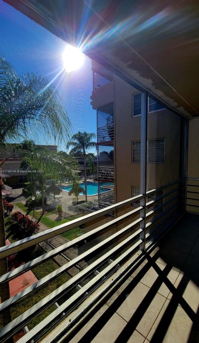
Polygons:
<instances>
[{"instance_id":1,"label":"clear blue sky around the sun, left of the building","mask_svg":"<svg viewBox=\"0 0 199 343\"><path fill-rule=\"evenodd\" d=\"M0 53L12 63L18 75L34 72L52 80L63 68L62 53L66 45L61 39L0 0ZM62 98L61 103L67 110L72 133L96 133L96 111L90 105L91 60L85 57L80 69L70 73L64 71L53 84L57 87ZM44 136L35 142L55 144ZM59 145L59 150L66 150L63 143Z\"/></svg>"}]
</instances>

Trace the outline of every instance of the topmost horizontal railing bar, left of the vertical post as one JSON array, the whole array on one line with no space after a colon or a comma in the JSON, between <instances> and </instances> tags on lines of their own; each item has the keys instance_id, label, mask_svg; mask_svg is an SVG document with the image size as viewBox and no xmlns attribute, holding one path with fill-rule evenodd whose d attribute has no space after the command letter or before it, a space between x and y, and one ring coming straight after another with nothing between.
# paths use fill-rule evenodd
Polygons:
<instances>
[{"instance_id":1,"label":"topmost horizontal railing bar, left of the vertical post","mask_svg":"<svg viewBox=\"0 0 199 343\"><path fill-rule=\"evenodd\" d=\"M21 239L15 243L1 247L0 248L0 259L2 259L5 256L13 255L14 253L18 252L19 250L23 250L25 248L29 248L33 245L41 243L44 240L47 240L47 239L52 238L54 236L60 235L60 234L66 232L68 230L71 230L71 229L73 229L79 225L89 223L92 220L98 219L99 217L104 216L105 214L108 214L110 212L119 210L119 209L121 209L125 206L128 206L128 205L132 204L133 202L140 200L140 199L143 199L143 198L144 198L143 194L140 194L136 197L121 201L121 202L114 204L114 205L111 205L111 206L108 206L105 209L89 213L89 214L81 217L80 219L79 218L74 219L68 223L55 226L52 229L45 230L45 231L40 232L36 235ZM3 254L5 251L9 251L9 254Z\"/></svg>"}]
</instances>

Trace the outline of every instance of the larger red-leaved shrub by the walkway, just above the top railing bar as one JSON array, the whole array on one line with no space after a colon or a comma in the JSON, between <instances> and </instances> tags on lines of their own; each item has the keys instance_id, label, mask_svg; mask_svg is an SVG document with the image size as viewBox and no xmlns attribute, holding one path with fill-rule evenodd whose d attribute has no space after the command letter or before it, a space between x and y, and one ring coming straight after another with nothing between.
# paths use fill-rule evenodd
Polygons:
<instances>
[{"instance_id":1,"label":"larger red-leaved shrub by the walkway, just above the top railing bar","mask_svg":"<svg viewBox=\"0 0 199 343\"><path fill-rule=\"evenodd\" d=\"M11 215L13 221L19 224L15 229L15 234L18 238L24 238L36 234L39 230L39 224L32 222L27 215L22 214L19 211L14 212Z\"/></svg>"}]
</instances>

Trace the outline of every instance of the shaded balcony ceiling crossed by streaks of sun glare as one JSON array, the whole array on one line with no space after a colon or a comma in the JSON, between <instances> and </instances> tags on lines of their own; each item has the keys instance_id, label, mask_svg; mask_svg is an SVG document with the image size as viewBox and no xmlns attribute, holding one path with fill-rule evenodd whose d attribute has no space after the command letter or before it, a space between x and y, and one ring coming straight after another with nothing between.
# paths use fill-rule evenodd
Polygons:
<instances>
[{"instance_id":1,"label":"shaded balcony ceiling crossed by streaks of sun glare","mask_svg":"<svg viewBox=\"0 0 199 343\"><path fill-rule=\"evenodd\" d=\"M5 1L181 114L199 116L198 0Z\"/></svg>"}]
</instances>

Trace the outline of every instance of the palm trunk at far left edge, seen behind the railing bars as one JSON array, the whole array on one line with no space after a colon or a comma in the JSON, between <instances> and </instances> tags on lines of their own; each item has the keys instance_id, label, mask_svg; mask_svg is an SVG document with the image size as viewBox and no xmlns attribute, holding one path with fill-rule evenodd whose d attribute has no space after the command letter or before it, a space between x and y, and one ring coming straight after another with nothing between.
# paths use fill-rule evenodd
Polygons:
<instances>
[{"instance_id":1,"label":"palm trunk at far left edge, seen behind the railing bars","mask_svg":"<svg viewBox=\"0 0 199 343\"><path fill-rule=\"evenodd\" d=\"M0 168L1 171L1 168ZM5 246L5 229L4 229L4 212L3 212L3 202L2 202L2 193L1 190L3 188L3 180L0 177L0 247ZM8 272L8 262L7 258L0 260L0 276L6 274ZM10 289L9 289L9 282L5 282L0 286L0 296L1 296L1 303L3 303L5 300L8 300L10 298ZM8 310L3 313L2 315L2 321L3 326L7 325L9 322L11 322L11 311ZM8 342L13 342L13 338L10 338Z\"/></svg>"}]
</instances>

